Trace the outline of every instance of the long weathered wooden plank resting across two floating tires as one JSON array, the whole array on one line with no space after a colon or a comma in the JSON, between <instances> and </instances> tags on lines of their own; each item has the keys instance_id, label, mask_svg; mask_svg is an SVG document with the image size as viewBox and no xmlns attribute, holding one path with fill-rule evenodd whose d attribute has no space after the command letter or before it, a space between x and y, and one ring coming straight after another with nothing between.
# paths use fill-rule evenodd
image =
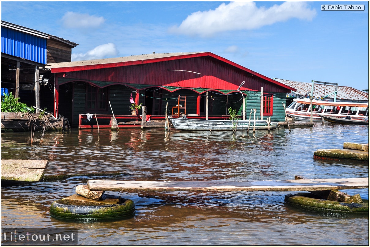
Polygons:
<instances>
[{"instance_id":1,"label":"long weathered wooden plank resting across two floating tires","mask_svg":"<svg viewBox=\"0 0 370 247\"><path fill-rule=\"evenodd\" d=\"M316 191L369 188L369 178L267 181L115 181L89 180L90 190L104 191Z\"/></svg>"}]
</instances>

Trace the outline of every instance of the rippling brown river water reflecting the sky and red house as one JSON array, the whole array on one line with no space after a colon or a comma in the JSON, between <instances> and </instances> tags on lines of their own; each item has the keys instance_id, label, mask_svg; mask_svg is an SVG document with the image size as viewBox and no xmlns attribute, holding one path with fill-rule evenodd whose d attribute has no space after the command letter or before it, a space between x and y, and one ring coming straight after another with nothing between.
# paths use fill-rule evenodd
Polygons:
<instances>
[{"instance_id":1,"label":"rippling brown river water reflecting the sky and red house","mask_svg":"<svg viewBox=\"0 0 370 247\"><path fill-rule=\"evenodd\" d=\"M61 180L1 187L1 227L78 229L79 245L369 245L369 215L315 213L285 204L288 192L119 193L135 216L113 222L67 222L50 204L90 179L286 180L368 177L369 163L313 160L317 149L368 143L368 126L315 123L268 131L163 129L1 133L2 159L49 160ZM96 174L92 174L96 173ZM108 173L116 173L109 175ZM117 174L118 173L118 174ZM90 175L84 175L90 174ZM344 191L369 198L368 189ZM118 192L106 191L118 195Z\"/></svg>"}]
</instances>

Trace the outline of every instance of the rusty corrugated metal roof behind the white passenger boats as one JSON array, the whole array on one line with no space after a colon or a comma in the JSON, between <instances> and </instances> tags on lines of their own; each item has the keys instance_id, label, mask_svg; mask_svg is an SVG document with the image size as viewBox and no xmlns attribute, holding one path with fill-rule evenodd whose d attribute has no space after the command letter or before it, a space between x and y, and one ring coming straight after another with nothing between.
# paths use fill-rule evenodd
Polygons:
<instances>
[{"instance_id":1,"label":"rusty corrugated metal roof behind the white passenger boats","mask_svg":"<svg viewBox=\"0 0 370 247\"><path fill-rule=\"evenodd\" d=\"M294 91L297 95L305 95L311 93L312 83L290 81L284 79L273 78L280 83L283 83L287 86L293 87L296 89ZM335 85L332 84L314 84L313 96L321 95L326 96L335 91ZM334 96L329 96L333 98ZM354 89L353 87L338 86L337 88L337 99L342 100L366 100L369 101L369 94L364 91Z\"/></svg>"}]
</instances>

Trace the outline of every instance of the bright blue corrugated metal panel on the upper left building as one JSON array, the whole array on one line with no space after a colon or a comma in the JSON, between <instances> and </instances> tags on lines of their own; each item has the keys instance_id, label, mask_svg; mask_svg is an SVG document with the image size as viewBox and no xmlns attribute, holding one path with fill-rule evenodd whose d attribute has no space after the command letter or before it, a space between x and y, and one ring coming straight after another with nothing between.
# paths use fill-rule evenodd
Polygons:
<instances>
[{"instance_id":1,"label":"bright blue corrugated metal panel on the upper left building","mask_svg":"<svg viewBox=\"0 0 370 247\"><path fill-rule=\"evenodd\" d=\"M1 27L1 52L46 64L46 39Z\"/></svg>"}]
</instances>

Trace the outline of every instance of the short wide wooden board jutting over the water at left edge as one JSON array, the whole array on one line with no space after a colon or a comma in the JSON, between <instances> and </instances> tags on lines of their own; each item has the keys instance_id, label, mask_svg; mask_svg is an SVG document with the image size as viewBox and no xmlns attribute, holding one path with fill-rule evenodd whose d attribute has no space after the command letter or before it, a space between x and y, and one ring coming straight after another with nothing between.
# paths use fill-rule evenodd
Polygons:
<instances>
[{"instance_id":1,"label":"short wide wooden board jutting over the water at left edge","mask_svg":"<svg viewBox=\"0 0 370 247\"><path fill-rule=\"evenodd\" d=\"M40 181L48 164L47 160L1 160L1 180Z\"/></svg>"}]
</instances>

